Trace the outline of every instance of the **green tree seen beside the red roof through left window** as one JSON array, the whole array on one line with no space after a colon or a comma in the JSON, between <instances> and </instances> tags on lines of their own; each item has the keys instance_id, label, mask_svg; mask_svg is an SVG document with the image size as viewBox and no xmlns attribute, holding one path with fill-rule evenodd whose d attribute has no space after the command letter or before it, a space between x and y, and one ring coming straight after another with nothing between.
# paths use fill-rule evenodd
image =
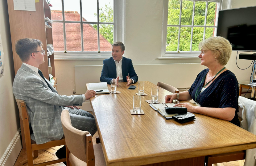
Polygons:
<instances>
[{"instance_id":1,"label":"green tree seen beside the red roof through left window","mask_svg":"<svg viewBox=\"0 0 256 166\"><path fill-rule=\"evenodd\" d=\"M110 4L110 2L109 2ZM97 16L94 13L94 16ZM105 5L105 10L99 8L100 22L114 22L114 11L112 6ZM97 30L97 24L92 25ZM114 43L114 26L109 24L100 24L100 34L106 38L110 44Z\"/></svg>"}]
</instances>

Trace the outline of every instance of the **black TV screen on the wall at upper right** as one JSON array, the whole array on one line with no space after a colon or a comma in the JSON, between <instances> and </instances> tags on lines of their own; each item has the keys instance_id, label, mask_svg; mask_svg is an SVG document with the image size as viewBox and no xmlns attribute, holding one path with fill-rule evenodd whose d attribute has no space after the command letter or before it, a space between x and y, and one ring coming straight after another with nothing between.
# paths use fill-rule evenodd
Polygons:
<instances>
[{"instance_id":1,"label":"black TV screen on the wall at upper right","mask_svg":"<svg viewBox=\"0 0 256 166\"><path fill-rule=\"evenodd\" d=\"M256 6L220 10L217 36L228 39L233 51L256 51Z\"/></svg>"}]
</instances>

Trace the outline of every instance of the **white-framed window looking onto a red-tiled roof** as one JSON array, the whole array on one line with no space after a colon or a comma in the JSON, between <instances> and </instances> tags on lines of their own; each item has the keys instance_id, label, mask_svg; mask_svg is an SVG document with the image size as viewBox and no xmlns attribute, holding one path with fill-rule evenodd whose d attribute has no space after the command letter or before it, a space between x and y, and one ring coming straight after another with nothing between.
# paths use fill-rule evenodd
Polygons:
<instances>
[{"instance_id":1,"label":"white-framed window looking onto a red-tiled roof","mask_svg":"<svg viewBox=\"0 0 256 166\"><path fill-rule=\"evenodd\" d=\"M122 4L119 0L52 0L52 37L55 54L111 55L122 41Z\"/></svg>"}]
</instances>

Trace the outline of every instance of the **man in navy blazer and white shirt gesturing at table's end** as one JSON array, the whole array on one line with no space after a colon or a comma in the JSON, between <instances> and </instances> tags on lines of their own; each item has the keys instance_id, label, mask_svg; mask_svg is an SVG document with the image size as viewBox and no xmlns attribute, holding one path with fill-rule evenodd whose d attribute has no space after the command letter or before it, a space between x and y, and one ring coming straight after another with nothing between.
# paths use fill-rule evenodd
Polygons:
<instances>
[{"instance_id":1,"label":"man in navy blazer and white shirt gesturing at table's end","mask_svg":"<svg viewBox=\"0 0 256 166\"><path fill-rule=\"evenodd\" d=\"M138 76L133 68L132 60L123 57L125 46L121 41L112 45L112 57L103 60L101 71L101 82L110 84L111 80L127 82L126 86L138 81ZM128 74L130 78L128 77Z\"/></svg>"}]
</instances>

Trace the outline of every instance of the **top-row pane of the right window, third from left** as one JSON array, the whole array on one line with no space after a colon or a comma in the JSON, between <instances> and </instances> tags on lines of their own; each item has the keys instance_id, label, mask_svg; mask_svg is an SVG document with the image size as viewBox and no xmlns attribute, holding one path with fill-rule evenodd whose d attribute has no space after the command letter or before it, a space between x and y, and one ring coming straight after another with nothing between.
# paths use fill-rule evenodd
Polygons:
<instances>
[{"instance_id":1,"label":"top-row pane of the right window, third from left","mask_svg":"<svg viewBox=\"0 0 256 166\"><path fill-rule=\"evenodd\" d=\"M201 25L201 26L204 25L205 9L206 9L206 2L204 2L204 1L196 1L194 25Z\"/></svg>"}]
</instances>

